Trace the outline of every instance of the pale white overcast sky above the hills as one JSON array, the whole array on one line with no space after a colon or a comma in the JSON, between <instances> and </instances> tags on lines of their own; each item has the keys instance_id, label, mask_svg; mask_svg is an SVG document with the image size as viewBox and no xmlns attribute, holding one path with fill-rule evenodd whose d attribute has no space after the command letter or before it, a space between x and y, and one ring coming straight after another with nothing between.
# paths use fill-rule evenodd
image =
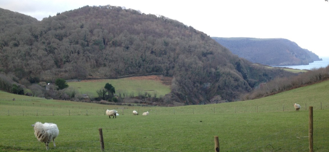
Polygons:
<instances>
[{"instance_id":1,"label":"pale white overcast sky above the hills","mask_svg":"<svg viewBox=\"0 0 329 152\"><path fill-rule=\"evenodd\" d=\"M42 20L83 6L112 5L177 20L211 37L285 38L329 57L324 0L1 0L0 8Z\"/></svg>"}]
</instances>

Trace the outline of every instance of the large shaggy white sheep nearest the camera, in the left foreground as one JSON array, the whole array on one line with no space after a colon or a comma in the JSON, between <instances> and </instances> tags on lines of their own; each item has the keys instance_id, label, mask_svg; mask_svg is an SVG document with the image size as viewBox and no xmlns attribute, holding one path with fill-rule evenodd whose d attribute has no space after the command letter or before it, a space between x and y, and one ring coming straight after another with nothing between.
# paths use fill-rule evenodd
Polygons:
<instances>
[{"instance_id":1,"label":"large shaggy white sheep nearest the camera, in the left foreground","mask_svg":"<svg viewBox=\"0 0 329 152\"><path fill-rule=\"evenodd\" d=\"M59 134L59 130L56 124L53 123L40 123L36 122L35 124L32 124L34 127L34 135L36 135L39 142L44 142L46 144L46 149L48 150L48 143L53 141L54 147L55 145L55 138Z\"/></svg>"}]
</instances>

